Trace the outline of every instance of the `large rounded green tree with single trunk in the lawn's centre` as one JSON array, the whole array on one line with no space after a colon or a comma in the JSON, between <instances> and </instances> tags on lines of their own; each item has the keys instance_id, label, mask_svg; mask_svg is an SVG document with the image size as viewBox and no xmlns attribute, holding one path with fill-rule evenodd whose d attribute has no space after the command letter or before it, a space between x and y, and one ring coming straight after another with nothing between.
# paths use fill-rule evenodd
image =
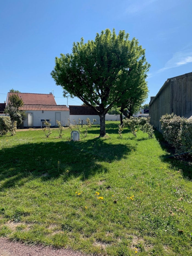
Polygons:
<instances>
[{"instance_id":1,"label":"large rounded green tree with single trunk in the lawn's centre","mask_svg":"<svg viewBox=\"0 0 192 256\"><path fill-rule=\"evenodd\" d=\"M145 49L137 39L129 40L124 30L116 35L114 29L106 29L96 34L95 41L84 43L81 38L73 44L71 54L60 56L51 72L56 85L62 86L64 97L78 97L95 109L100 116L100 136L105 136L105 115L122 98L129 99L132 85L128 81L135 77L137 63L143 66L142 74L149 69Z\"/></svg>"}]
</instances>

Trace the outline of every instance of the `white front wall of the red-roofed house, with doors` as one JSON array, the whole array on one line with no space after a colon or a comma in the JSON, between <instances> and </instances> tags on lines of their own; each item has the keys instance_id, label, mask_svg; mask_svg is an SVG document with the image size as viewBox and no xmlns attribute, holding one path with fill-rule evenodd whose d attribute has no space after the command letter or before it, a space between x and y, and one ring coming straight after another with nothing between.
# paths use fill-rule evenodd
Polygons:
<instances>
[{"instance_id":1,"label":"white front wall of the red-roofed house, with doors","mask_svg":"<svg viewBox=\"0 0 192 256\"><path fill-rule=\"evenodd\" d=\"M41 126L43 119L50 119L51 126L57 126L56 119L58 121L63 122L63 126L65 126L69 119L69 111L46 111L44 110L27 110L27 118L23 123L24 127L30 126ZM60 120L59 120L60 119Z\"/></svg>"}]
</instances>

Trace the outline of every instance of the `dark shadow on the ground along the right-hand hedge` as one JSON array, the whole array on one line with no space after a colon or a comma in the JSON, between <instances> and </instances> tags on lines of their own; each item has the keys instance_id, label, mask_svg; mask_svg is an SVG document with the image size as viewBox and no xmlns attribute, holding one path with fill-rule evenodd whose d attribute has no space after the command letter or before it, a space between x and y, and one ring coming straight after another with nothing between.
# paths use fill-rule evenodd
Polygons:
<instances>
[{"instance_id":1,"label":"dark shadow on the ground along the right-hand hedge","mask_svg":"<svg viewBox=\"0 0 192 256\"><path fill-rule=\"evenodd\" d=\"M188 154L175 154L175 149L168 144L163 138L162 133L155 130L154 131L156 139L159 141L159 144L163 150L167 151L167 154L162 155L160 158L163 162L170 164L172 168L181 170L184 178L192 179L192 157Z\"/></svg>"}]
</instances>

